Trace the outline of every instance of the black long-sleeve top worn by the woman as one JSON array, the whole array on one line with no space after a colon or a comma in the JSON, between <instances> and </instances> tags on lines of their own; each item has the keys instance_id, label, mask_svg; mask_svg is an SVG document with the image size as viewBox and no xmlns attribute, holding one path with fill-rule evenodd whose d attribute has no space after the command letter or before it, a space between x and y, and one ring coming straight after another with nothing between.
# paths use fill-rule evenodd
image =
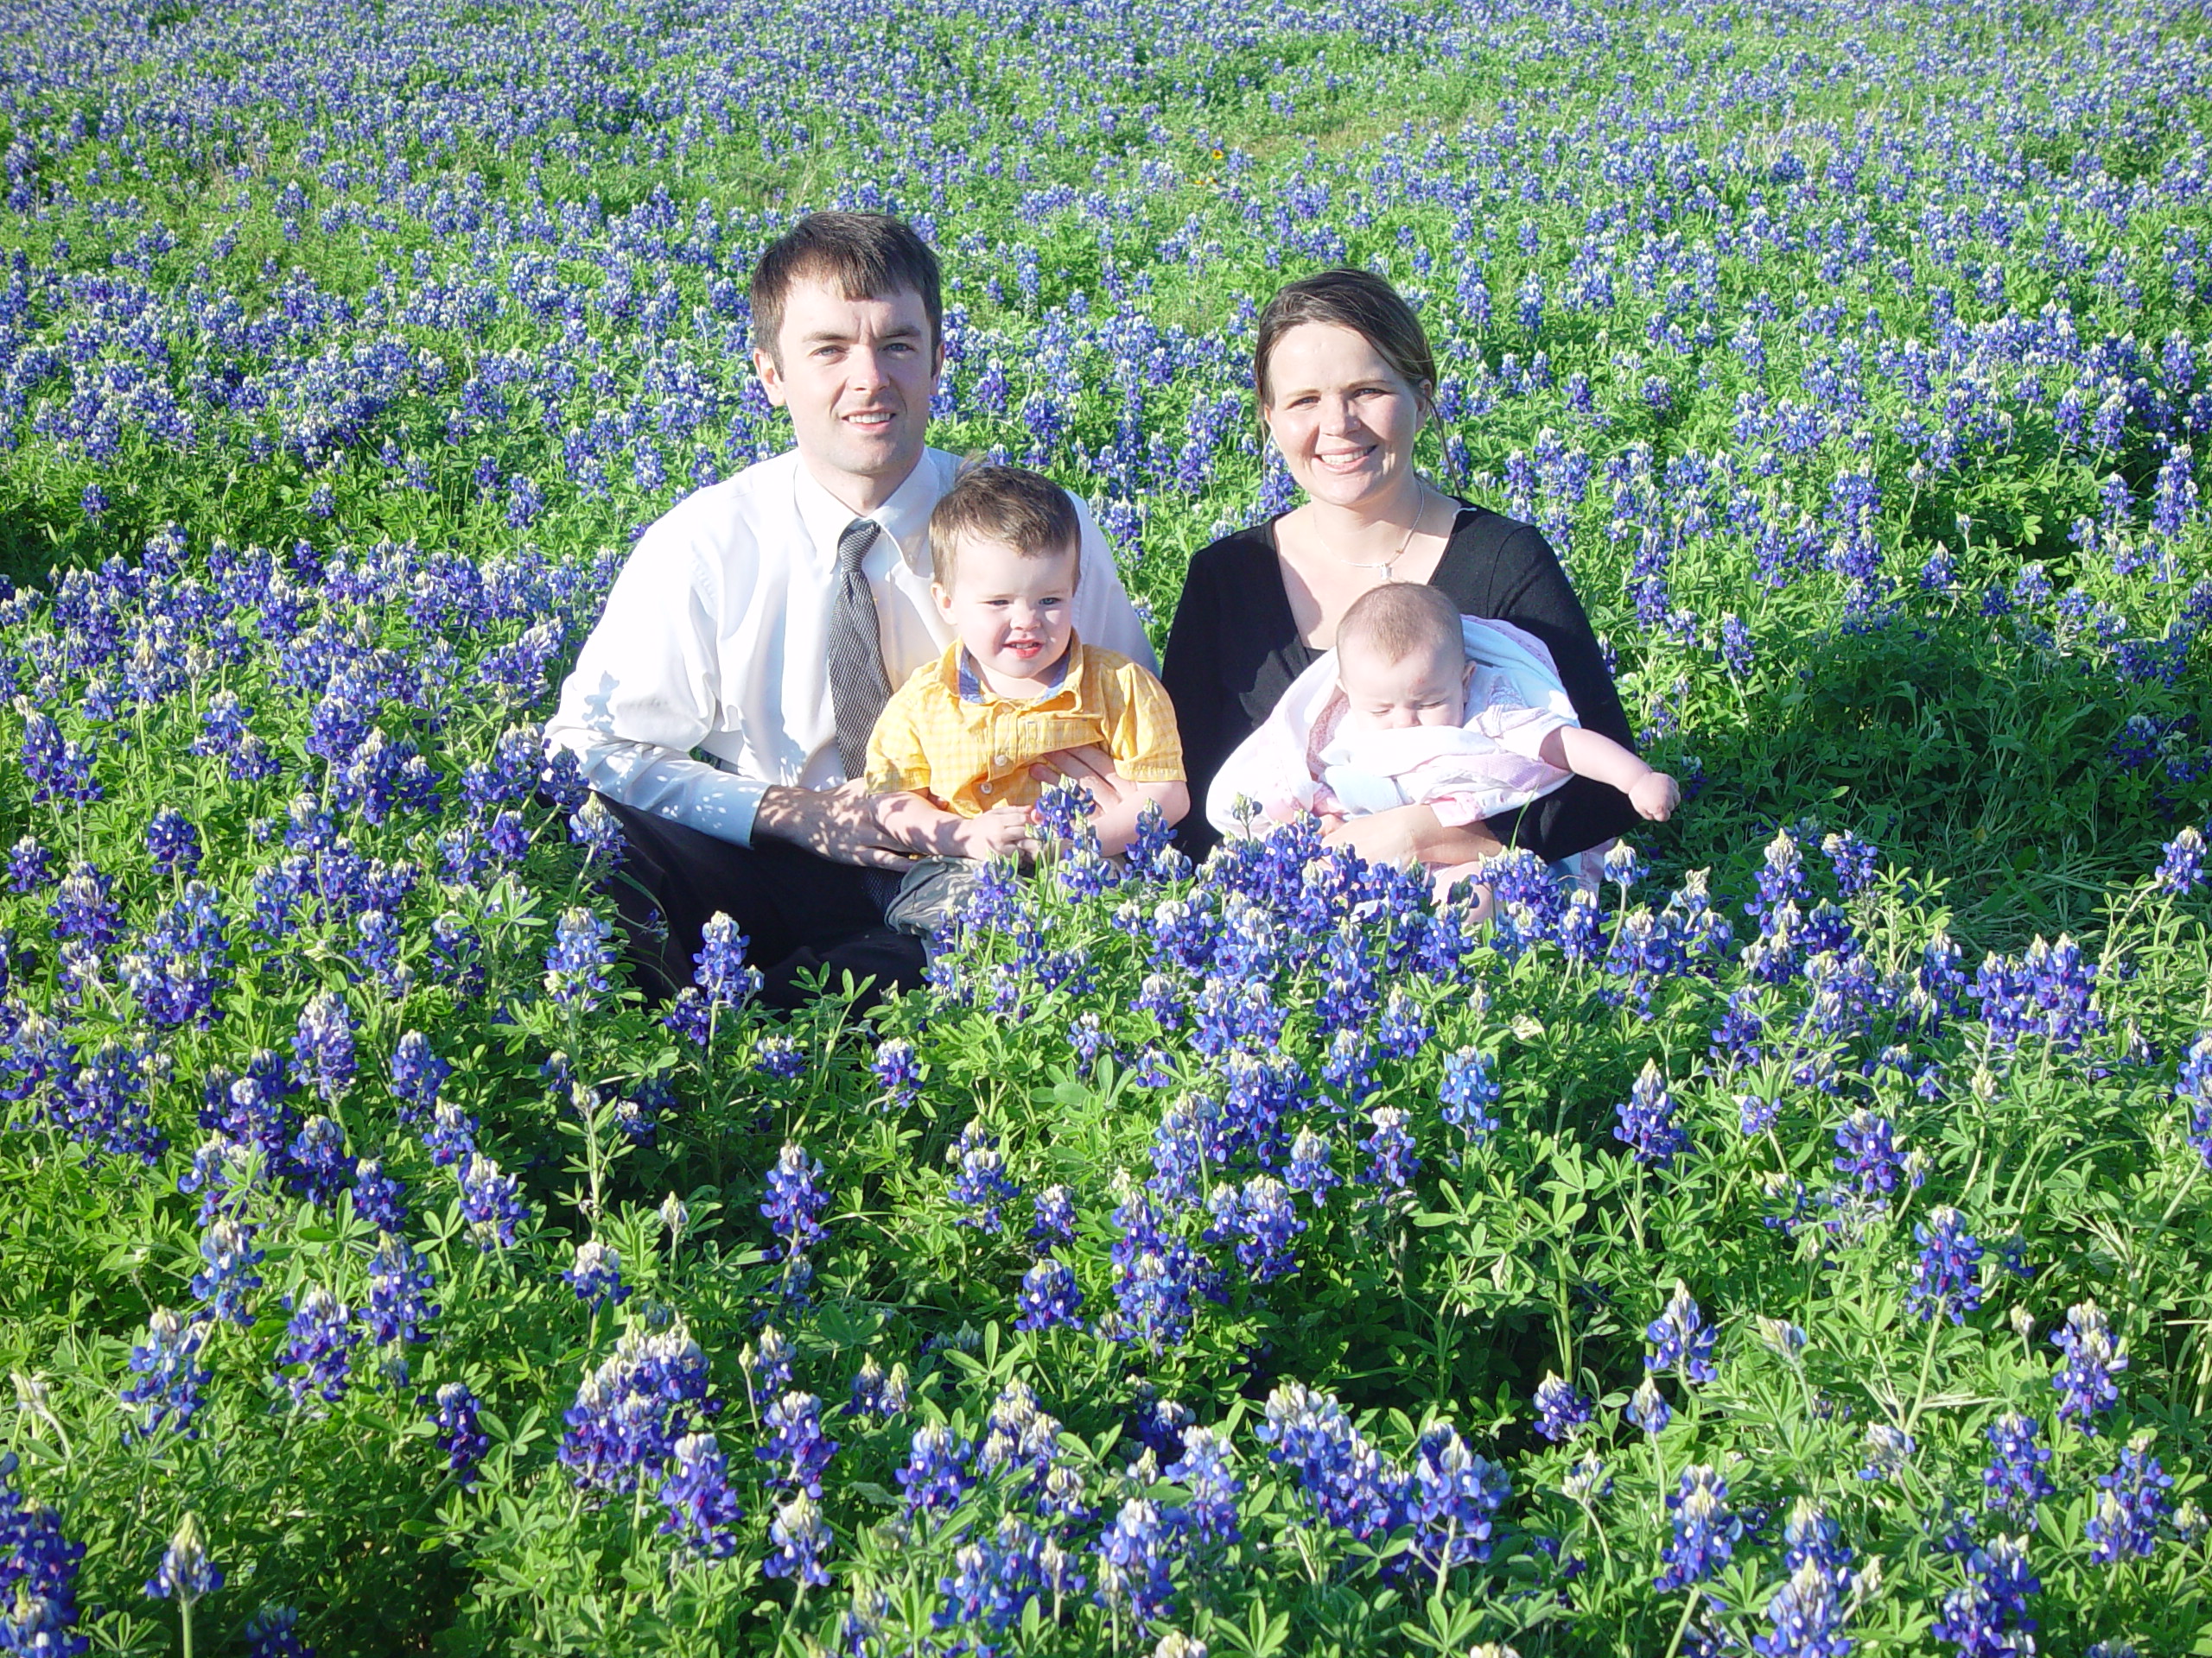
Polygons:
<instances>
[{"instance_id":1,"label":"black long-sleeve top worn by the woman","mask_svg":"<svg viewBox=\"0 0 2212 1658\"><path fill-rule=\"evenodd\" d=\"M1542 639L1582 725L1635 747L1590 619L1533 524L1462 506L1429 586L1442 588L1460 615L1511 621ZM1214 772L1316 657L1321 652L1298 639L1290 612L1274 520L1223 535L1192 555L1159 676L1183 736L1190 816L1181 825L1181 844L1194 858L1221 838L1206 822ZM1506 847L1571 858L1624 833L1637 814L1619 789L1577 776L1486 822Z\"/></svg>"}]
</instances>

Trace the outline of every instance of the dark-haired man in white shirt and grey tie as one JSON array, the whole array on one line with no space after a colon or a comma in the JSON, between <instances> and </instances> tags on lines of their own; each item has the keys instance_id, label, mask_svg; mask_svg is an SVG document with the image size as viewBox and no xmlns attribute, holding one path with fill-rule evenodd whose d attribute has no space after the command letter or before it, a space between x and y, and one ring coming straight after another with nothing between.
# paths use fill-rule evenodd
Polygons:
<instances>
[{"instance_id":1,"label":"dark-haired man in white shirt and grey tie","mask_svg":"<svg viewBox=\"0 0 2212 1658\"><path fill-rule=\"evenodd\" d=\"M770 1006L796 1006L803 973L920 979L918 942L883 926L909 853L858 778L891 688L951 639L927 526L958 462L922 442L940 323L936 254L898 219L816 212L774 241L752 272L752 363L796 447L644 533L562 685L546 741L622 820L617 902L653 995L690 979L714 911L750 940ZM1075 628L1152 668L1077 511Z\"/></svg>"}]
</instances>

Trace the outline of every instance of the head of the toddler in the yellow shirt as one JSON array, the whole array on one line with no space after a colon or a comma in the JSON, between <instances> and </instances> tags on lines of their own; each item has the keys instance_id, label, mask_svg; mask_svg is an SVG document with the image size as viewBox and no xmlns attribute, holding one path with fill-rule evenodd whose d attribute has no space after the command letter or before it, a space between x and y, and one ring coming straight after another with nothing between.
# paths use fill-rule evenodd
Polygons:
<instances>
[{"instance_id":1,"label":"head of the toddler in the yellow shirt","mask_svg":"<svg viewBox=\"0 0 2212 1658\"><path fill-rule=\"evenodd\" d=\"M975 466L929 515L931 595L998 679L1037 679L1068 654L1082 522L1068 491L1024 466Z\"/></svg>"}]
</instances>

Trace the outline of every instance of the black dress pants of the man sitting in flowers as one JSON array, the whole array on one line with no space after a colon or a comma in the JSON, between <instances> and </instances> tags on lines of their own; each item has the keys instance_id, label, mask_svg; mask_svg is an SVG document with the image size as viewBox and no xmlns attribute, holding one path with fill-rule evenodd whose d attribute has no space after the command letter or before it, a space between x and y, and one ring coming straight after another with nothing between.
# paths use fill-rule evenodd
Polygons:
<instances>
[{"instance_id":1,"label":"black dress pants of the man sitting in flowers","mask_svg":"<svg viewBox=\"0 0 2212 1658\"><path fill-rule=\"evenodd\" d=\"M606 796L599 802L628 842L613 891L630 975L648 997L666 999L690 984L699 935L717 911L745 935L745 959L761 968L761 1001L770 1008L807 999L803 973L823 973L830 988L845 973L856 984L872 979L863 1006L891 986L911 990L922 982L920 940L883 924L896 873L832 864L776 840L737 847Z\"/></svg>"}]
</instances>

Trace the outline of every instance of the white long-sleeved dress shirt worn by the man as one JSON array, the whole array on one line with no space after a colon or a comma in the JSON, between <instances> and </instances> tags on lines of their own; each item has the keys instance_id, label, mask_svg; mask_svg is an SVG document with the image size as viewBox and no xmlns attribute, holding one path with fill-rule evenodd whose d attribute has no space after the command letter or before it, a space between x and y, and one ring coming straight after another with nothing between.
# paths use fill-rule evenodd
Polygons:
<instances>
[{"instance_id":1,"label":"white long-sleeved dress shirt worn by the man","mask_svg":"<svg viewBox=\"0 0 2212 1658\"><path fill-rule=\"evenodd\" d=\"M953 639L929 597L929 513L958 469L925 449L865 513L883 526L860 568L894 688ZM1157 670L1106 539L1079 500L1075 513L1075 632ZM546 741L571 749L599 794L741 847L770 785L843 783L830 606L836 542L854 517L796 449L670 506L622 566Z\"/></svg>"}]
</instances>

